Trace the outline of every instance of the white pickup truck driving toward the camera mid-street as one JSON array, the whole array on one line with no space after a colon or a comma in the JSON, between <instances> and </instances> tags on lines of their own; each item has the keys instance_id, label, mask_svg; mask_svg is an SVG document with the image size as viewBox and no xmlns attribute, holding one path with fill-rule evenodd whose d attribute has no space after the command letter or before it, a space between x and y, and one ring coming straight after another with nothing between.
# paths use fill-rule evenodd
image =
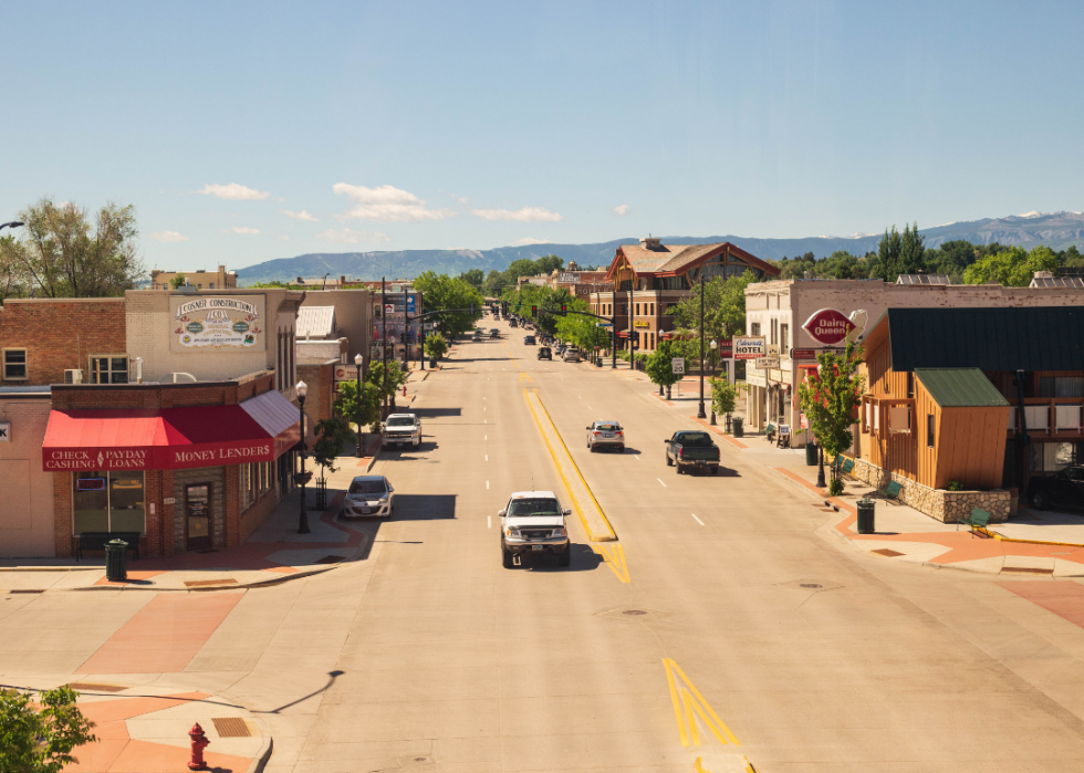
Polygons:
<instances>
[{"instance_id":1,"label":"white pickup truck driving toward the camera mid-street","mask_svg":"<svg viewBox=\"0 0 1084 773\"><path fill-rule=\"evenodd\" d=\"M557 556L562 566L572 564L572 543L565 523L565 516L572 511L562 510L552 491L517 491L497 514L501 519L504 568L521 565L524 553L549 553Z\"/></svg>"}]
</instances>

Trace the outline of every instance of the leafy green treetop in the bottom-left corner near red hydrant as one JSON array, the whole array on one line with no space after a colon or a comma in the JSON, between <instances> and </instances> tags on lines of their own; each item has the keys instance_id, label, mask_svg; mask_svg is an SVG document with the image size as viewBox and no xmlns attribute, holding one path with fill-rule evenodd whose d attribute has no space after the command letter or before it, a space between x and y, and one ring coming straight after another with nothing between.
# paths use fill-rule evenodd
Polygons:
<instances>
[{"instance_id":1,"label":"leafy green treetop in the bottom-left corner near red hydrant","mask_svg":"<svg viewBox=\"0 0 1084 773\"><path fill-rule=\"evenodd\" d=\"M37 704L29 693L0 692L0 771L60 773L77 763L72 751L97 741L75 706L77 697L66 685L42 690Z\"/></svg>"}]
</instances>

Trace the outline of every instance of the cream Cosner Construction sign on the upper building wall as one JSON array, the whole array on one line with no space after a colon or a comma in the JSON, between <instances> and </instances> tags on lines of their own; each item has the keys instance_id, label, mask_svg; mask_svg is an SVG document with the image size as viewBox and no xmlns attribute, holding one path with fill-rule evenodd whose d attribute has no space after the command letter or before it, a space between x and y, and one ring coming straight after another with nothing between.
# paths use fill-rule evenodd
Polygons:
<instances>
[{"instance_id":1,"label":"cream Cosner Construction sign on the upper building wall","mask_svg":"<svg viewBox=\"0 0 1084 773\"><path fill-rule=\"evenodd\" d=\"M265 348L263 295L195 299L175 295L169 302L173 317L170 351L226 347L262 352Z\"/></svg>"}]
</instances>

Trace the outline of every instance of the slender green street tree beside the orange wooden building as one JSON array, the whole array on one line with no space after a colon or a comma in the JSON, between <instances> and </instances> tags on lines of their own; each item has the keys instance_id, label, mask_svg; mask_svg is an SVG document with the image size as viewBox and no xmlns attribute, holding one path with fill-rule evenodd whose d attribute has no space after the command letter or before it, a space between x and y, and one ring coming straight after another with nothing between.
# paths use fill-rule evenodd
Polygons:
<instances>
[{"instance_id":1,"label":"slender green street tree beside the orange wooden building","mask_svg":"<svg viewBox=\"0 0 1084 773\"><path fill-rule=\"evenodd\" d=\"M816 361L817 374L799 384L798 394L817 446L835 458L854 442L851 428L866 383L865 376L857 375L862 347L848 336L842 355L823 352ZM838 466L833 464L828 493L835 497L842 491Z\"/></svg>"}]
</instances>

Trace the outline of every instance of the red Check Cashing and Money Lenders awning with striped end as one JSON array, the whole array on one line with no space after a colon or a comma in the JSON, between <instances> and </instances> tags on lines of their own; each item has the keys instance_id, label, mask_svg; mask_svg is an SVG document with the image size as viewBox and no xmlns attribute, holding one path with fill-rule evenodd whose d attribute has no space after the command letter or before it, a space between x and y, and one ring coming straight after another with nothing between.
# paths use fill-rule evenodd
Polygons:
<instances>
[{"instance_id":1,"label":"red Check Cashing and Money Lenders awning with striped end","mask_svg":"<svg viewBox=\"0 0 1084 773\"><path fill-rule=\"evenodd\" d=\"M53 410L42 466L46 472L183 470L274 461L296 445L300 430L296 408L278 391L240 405Z\"/></svg>"}]
</instances>

